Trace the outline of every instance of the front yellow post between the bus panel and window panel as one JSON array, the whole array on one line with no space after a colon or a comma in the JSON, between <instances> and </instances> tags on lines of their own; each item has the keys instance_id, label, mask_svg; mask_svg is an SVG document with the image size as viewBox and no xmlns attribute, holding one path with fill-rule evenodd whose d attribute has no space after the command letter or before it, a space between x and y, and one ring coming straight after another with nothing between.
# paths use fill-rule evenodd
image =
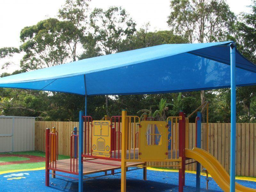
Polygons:
<instances>
[{"instance_id":1,"label":"front yellow post between the bus panel and window panel","mask_svg":"<svg viewBox=\"0 0 256 192\"><path fill-rule=\"evenodd\" d=\"M121 192L126 191L126 146L127 146L127 111L122 110L122 143L121 143Z\"/></svg>"}]
</instances>

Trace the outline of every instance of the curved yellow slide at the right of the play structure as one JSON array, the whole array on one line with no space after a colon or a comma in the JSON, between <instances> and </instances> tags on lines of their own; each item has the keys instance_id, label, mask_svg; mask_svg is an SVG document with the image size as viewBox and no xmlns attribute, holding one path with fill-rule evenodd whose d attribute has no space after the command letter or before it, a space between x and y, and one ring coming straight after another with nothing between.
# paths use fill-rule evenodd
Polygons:
<instances>
[{"instance_id":1,"label":"curved yellow slide at the right of the play structure","mask_svg":"<svg viewBox=\"0 0 256 192\"><path fill-rule=\"evenodd\" d=\"M229 174L220 162L207 151L200 148L185 149L185 156L195 159L211 174L223 191L229 191ZM236 192L256 192L256 189L244 187L236 183Z\"/></svg>"}]
</instances>

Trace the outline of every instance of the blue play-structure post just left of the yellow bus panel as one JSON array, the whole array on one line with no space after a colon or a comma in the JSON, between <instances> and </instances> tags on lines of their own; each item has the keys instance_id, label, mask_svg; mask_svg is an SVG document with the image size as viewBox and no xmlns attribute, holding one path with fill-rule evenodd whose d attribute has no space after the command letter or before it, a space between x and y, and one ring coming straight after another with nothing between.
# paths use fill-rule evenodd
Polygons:
<instances>
[{"instance_id":1,"label":"blue play-structure post just left of the yellow bus panel","mask_svg":"<svg viewBox=\"0 0 256 192\"><path fill-rule=\"evenodd\" d=\"M84 121L82 116L84 116L84 111L79 111L79 149L78 149L78 162L79 162L79 173L78 173L78 191L83 192L83 130L84 130Z\"/></svg>"}]
</instances>

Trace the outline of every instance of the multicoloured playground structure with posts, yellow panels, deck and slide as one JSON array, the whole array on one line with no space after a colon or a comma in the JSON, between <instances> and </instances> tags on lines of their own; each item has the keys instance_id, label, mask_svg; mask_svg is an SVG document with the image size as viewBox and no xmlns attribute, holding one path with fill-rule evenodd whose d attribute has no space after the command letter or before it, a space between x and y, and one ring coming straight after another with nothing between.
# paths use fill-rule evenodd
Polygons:
<instances>
[{"instance_id":1,"label":"multicoloured playground structure with posts, yellow panels, deck and slide","mask_svg":"<svg viewBox=\"0 0 256 192\"><path fill-rule=\"evenodd\" d=\"M79 131L76 127L71 133L70 159L58 160L58 132L55 128L52 129L52 132L50 129L46 130L46 186L49 186L50 174L53 177L58 175L79 180L76 177L56 172L79 176L80 164L82 164L82 176L97 172L103 172L103 174L96 177L121 173L121 191L126 191L127 171L143 169L143 180L147 180L147 167L149 166L147 162L158 161L178 163L164 165L164 167L179 169L179 191L183 191L185 185L185 165L191 163L196 163L197 191L200 191L201 164L221 189L229 191L229 174L220 162L207 152L209 151L208 139L206 141L207 151L201 149L202 112L206 111L206 134L208 135L208 106L209 103L204 102L188 117L183 111L180 111L179 116L170 116L166 121L155 121L154 118L147 115L140 120L138 116L127 115L126 110L122 111L122 116L105 116L102 120L93 120L91 116L84 116L80 111L79 126L81 128L79 131L82 130L83 133L78 134ZM196 146L193 149L188 149L188 119L196 112ZM81 140L81 137L84 141ZM83 145L80 145L80 142ZM173 145L173 143L175 144ZM78 146L82 151L81 156L79 156ZM195 161L186 163L188 159ZM158 166L160 167L160 165ZM117 169L121 169L121 172L115 172ZM86 177L83 180L96 177ZM255 192L256 190L236 183L236 191Z\"/></svg>"}]
</instances>

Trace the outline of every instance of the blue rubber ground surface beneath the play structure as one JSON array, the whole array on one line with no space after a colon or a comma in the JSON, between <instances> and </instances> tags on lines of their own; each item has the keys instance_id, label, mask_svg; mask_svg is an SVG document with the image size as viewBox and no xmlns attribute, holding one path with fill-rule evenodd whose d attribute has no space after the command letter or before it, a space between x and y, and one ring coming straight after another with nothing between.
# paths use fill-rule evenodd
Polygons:
<instances>
[{"instance_id":1,"label":"blue rubber ground surface beneath the play structure","mask_svg":"<svg viewBox=\"0 0 256 192\"><path fill-rule=\"evenodd\" d=\"M116 170L119 172L119 170ZM60 172L56 172L60 173ZM110 173L110 172L108 172ZM62 173L60 173L62 174ZM65 174L65 173L64 173ZM50 187L45 186L45 171L25 171L0 175L0 191L77 191L78 182L73 179L56 176L50 177ZM70 174L65 174L74 176ZM100 173L91 176L101 175ZM148 180L144 181L142 169L127 172L127 192L148 192L148 191L178 191L178 172L147 171ZM14 179L19 178L21 179ZM186 186L184 191L196 190L196 175L186 173ZM85 178L85 177L84 177ZM8 180L9 179L9 180ZM104 176L84 181L86 191L120 191L121 175ZM238 183L250 188L256 188L256 182L237 180ZM201 176L201 191L222 191L214 180L209 181L209 190L205 190L205 177Z\"/></svg>"}]
</instances>

